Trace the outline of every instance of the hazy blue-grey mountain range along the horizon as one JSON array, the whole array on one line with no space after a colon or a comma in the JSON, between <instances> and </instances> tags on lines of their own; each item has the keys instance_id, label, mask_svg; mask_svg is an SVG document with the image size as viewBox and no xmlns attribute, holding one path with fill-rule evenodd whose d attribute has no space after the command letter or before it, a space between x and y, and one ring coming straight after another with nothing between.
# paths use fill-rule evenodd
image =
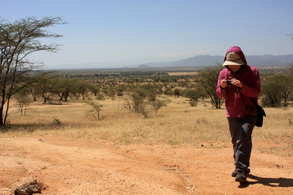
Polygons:
<instances>
[{"instance_id":1,"label":"hazy blue-grey mountain range along the horizon","mask_svg":"<svg viewBox=\"0 0 293 195\"><path fill-rule=\"evenodd\" d=\"M251 66L266 65L288 65L293 62L292 55L246 55L246 61ZM147 62L134 64L134 60L124 60L119 62L98 62L84 64L62 64L56 66L48 66L46 69L96 69L96 68L136 68L136 67L197 67L214 65L215 61L223 62L224 56L197 55L187 59L171 61L171 62ZM139 60L135 60L139 62Z\"/></svg>"}]
</instances>

